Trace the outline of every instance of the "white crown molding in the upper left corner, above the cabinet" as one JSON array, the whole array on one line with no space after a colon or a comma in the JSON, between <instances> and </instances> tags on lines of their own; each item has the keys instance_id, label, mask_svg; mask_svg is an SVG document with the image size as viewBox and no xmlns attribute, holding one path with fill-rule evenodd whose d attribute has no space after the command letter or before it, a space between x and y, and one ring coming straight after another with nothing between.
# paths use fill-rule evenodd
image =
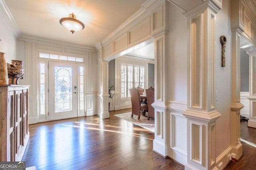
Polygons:
<instances>
[{"instance_id":1,"label":"white crown molding in the upper left corner, above the cabinet","mask_svg":"<svg viewBox=\"0 0 256 170\"><path fill-rule=\"evenodd\" d=\"M20 37L22 35L19 27L17 26L7 4L4 0L0 0L0 16L4 19L5 23L10 26L10 28L14 31L16 37Z\"/></svg>"}]
</instances>

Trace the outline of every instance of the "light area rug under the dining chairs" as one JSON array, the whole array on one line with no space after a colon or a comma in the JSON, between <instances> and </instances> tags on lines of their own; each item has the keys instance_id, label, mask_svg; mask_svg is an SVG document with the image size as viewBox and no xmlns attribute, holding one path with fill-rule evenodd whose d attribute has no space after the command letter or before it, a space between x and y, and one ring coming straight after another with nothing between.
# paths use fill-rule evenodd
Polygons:
<instances>
[{"instance_id":1,"label":"light area rug under the dining chairs","mask_svg":"<svg viewBox=\"0 0 256 170\"><path fill-rule=\"evenodd\" d=\"M138 120L138 116L137 115L133 115L133 117L131 117L132 112L128 112L128 113L121 113L121 114L117 114L114 115L116 117L120 117L121 119L124 119L126 121L129 121L137 126L143 127L145 129L148 129L149 131L154 132L155 131L155 123L154 123L154 119L150 117L150 120L148 120L148 116L145 115L140 115L140 120Z\"/></svg>"}]
</instances>

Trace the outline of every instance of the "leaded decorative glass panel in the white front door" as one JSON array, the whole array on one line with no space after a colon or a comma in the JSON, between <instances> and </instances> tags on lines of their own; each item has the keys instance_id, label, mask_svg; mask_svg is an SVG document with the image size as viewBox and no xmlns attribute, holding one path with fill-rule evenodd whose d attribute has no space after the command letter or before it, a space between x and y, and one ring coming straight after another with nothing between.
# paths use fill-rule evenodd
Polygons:
<instances>
[{"instance_id":1,"label":"leaded decorative glass panel in the white front door","mask_svg":"<svg viewBox=\"0 0 256 170\"><path fill-rule=\"evenodd\" d=\"M54 68L55 112L72 110L72 67Z\"/></svg>"}]
</instances>

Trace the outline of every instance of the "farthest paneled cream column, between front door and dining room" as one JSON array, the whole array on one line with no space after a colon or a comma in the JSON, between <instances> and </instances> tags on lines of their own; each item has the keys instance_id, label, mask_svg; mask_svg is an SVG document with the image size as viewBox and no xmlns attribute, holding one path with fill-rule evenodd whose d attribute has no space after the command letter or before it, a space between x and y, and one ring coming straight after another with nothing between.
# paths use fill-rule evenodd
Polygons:
<instances>
[{"instance_id":1,"label":"farthest paneled cream column, between front door and dining room","mask_svg":"<svg viewBox=\"0 0 256 170\"><path fill-rule=\"evenodd\" d=\"M100 63L100 112L101 119L109 118L108 112L108 61Z\"/></svg>"}]
</instances>

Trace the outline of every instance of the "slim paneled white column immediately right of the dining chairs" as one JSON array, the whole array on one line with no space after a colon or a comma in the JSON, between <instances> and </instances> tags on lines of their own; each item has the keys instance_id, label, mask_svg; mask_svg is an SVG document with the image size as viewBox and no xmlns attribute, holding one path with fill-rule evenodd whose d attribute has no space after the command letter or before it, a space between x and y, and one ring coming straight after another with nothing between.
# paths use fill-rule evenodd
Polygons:
<instances>
[{"instance_id":1,"label":"slim paneled white column immediately right of the dining chairs","mask_svg":"<svg viewBox=\"0 0 256 170\"><path fill-rule=\"evenodd\" d=\"M153 141L153 150L166 157L167 139L166 139L166 31L162 31L154 36L155 51L155 102L152 106L155 109L155 139Z\"/></svg>"}]
</instances>

